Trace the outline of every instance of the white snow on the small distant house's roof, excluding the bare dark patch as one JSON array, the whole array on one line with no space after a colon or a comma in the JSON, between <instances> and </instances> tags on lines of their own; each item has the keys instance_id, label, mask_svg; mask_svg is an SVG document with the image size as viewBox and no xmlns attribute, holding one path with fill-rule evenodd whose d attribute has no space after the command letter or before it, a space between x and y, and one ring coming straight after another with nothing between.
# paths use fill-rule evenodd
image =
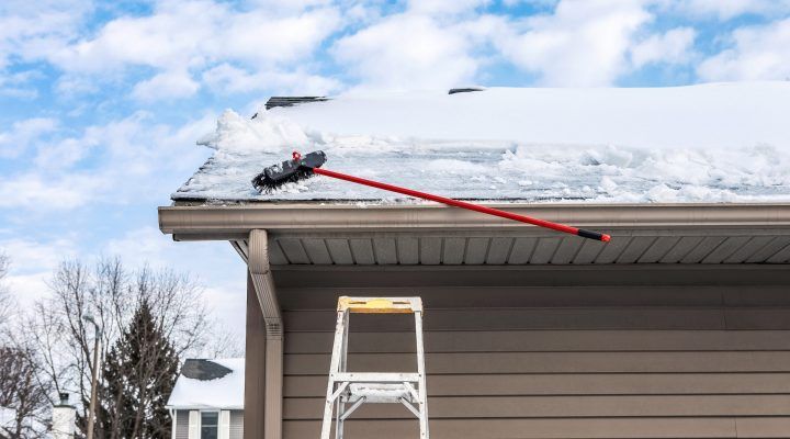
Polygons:
<instances>
[{"instance_id":1,"label":"white snow on the small distant house's roof, excluding the bare dark patch","mask_svg":"<svg viewBox=\"0 0 790 439\"><path fill-rule=\"evenodd\" d=\"M242 409L245 359L226 358L201 361L217 363L230 369L232 372L214 380L198 380L183 374L179 375L167 406L177 409Z\"/></svg>"}]
</instances>

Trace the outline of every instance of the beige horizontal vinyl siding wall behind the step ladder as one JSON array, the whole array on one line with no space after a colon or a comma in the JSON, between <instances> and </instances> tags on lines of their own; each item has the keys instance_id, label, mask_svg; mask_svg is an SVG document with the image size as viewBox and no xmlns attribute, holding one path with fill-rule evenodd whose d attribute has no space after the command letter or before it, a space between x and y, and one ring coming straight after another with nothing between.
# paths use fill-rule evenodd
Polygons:
<instances>
[{"instance_id":1,"label":"beige horizontal vinyl siding wall behind the step ladder","mask_svg":"<svg viewBox=\"0 0 790 439\"><path fill-rule=\"evenodd\" d=\"M448 288L437 275L408 289L282 275L284 437L318 436L339 294L422 296L435 438L790 437L790 291L781 277L743 275L611 288ZM411 329L404 316L353 315L350 370L414 370ZM363 406L347 432L418 436L396 405Z\"/></svg>"}]
</instances>

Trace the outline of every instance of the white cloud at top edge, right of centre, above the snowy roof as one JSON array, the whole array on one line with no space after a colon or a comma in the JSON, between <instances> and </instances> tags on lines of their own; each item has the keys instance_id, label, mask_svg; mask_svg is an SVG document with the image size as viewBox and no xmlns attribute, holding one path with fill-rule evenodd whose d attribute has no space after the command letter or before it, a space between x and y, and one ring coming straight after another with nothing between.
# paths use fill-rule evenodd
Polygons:
<instances>
[{"instance_id":1,"label":"white cloud at top edge, right of centre, above the snowy roof","mask_svg":"<svg viewBox=\"0 0 790 439\"><path fill-rule=\"evenodd\" d=\"M495 43L546 86L608 86L630 66L628 50L653 16L644 1L561 1L554 13L504 30Z\"/></svg>"}]
</instances>

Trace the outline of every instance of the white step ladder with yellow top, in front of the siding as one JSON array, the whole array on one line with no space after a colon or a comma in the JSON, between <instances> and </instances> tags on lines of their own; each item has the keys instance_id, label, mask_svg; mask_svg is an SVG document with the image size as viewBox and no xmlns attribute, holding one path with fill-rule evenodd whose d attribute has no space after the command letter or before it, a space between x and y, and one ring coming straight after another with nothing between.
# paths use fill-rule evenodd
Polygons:
<instances>
[{"instance_id":1,"label":"white step ladder with yellow top, in front of the siding","mask_svg":"<svg viewBox=\"0 0 790 439\"><path fill-rule=\"evenodd\" d=\"M417 373L348 372L349 316L361 314L414 314L417 336ZM422 348L422 300L420 297L348 297L338 300L335 344L324 406L320 439L329 439L332 410L335 439L343 437L343 421L362 404L403 404L419 419L420 439L429 439L428 401ZM347 405L349 405L347 407Z\"/></svg>"}]
</instances>

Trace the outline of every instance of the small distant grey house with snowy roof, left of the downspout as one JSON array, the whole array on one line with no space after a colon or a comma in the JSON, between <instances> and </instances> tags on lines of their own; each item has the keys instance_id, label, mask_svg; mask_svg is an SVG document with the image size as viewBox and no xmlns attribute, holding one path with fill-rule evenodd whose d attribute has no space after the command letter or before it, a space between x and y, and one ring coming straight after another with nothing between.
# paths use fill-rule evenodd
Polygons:
<instances>
[{"instance_id":1,"label":"small distant grey house with snowy roof, left of the downspout","mask_svg":"<svg viewBox=\"0 0 790 439\"><path fill-rule=\"evenodd\" d=\"M167 403L172 439L241 439L244 378L242 358L184 361Z\"/></svg>"}]
</instances>

